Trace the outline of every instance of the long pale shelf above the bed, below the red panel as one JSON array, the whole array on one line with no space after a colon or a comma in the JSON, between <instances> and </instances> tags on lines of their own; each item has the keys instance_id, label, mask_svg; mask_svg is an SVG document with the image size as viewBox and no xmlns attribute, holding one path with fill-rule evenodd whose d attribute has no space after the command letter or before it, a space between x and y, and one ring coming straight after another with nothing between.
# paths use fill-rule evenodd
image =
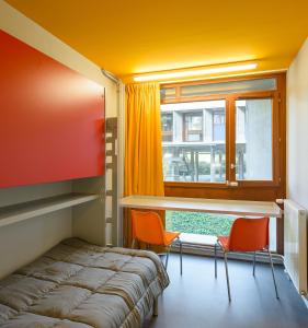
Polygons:
<instances>
[{"instance_id":1,"label":"long pale shelf above the bed, below the red panel","mask_svg":"<svg viewBox=\"0 0 308 328\"><path fill-rule=\"evenodd\" d=\"M98 199L99 195L65 194L0 208L0 226Z\"/></svg>"}]
</instances>

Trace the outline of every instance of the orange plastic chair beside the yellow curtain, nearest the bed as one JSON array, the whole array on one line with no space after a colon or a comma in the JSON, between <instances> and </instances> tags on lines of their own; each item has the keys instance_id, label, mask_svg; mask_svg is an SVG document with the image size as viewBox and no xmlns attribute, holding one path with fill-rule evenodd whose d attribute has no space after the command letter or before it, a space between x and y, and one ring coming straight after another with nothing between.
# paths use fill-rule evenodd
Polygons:
<instances>
[{"instance_id":1,"label":"orange plastic chair beside the yellow curtain, nearest the bed","mask_svg":"<svg viewBox=\"0 0 308 328\"><path fill-rule=\"evenodd\" d=\"M180 234L178 232L168 232L163 230L161 219L156 212L140 212L132 210L133 222L133 243L132 248L135 246L135 242L142 242L147 245L159 245L168 247L166 265L168 267L169 253L174 242L180 245L180 271L182 274L182 243Z\"/></svg>"}]
</instances>

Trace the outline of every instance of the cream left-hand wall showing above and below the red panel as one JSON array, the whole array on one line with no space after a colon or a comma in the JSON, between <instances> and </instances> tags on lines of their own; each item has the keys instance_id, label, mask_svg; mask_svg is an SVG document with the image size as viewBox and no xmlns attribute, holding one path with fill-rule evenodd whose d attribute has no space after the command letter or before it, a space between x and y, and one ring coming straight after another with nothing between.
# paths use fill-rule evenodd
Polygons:
<instances>
[{"instance_id":1,"label":"cream left-hand wall showing above and below the red panel","mask_svg":"<svg viewBox=\"0 0 308 328\"><path fill-rule=\"evenodd\" d=\"M0 28L105 86L106 116L116 116L116 89L100 68L0 0ZM71 183L0 189L0 207L70 192ZM85 223L87 224L87 223ZM72 233L71 210L0 229L0 278L32 261Z\"/></svg>"}]
</instances>

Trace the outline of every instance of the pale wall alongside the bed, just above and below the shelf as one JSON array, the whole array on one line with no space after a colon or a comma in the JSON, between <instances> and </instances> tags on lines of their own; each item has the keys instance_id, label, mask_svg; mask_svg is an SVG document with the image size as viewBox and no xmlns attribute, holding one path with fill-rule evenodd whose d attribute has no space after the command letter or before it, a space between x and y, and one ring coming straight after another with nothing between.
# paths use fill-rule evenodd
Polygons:
<instances>
[{"instance_id":1,"label":"pale wall alongside the bed, just above and below the shelf","mask_svg":"<svg viewBox=\"0 0 308 328\"><path fill-rule=\"evenodd\" d=\"M71 191L70 183L0 189L0 207ZM71 210L62 210L0 227L0 278L70 237Z\"/></svg>"}]
</instances>

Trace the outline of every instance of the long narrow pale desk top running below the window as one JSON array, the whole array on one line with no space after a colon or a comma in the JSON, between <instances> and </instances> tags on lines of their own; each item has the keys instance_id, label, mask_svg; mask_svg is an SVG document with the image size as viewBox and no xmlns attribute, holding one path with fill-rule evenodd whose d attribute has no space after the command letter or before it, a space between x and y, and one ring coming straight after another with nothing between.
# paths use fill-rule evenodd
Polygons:
<instances>
[{"instance_id":1,"label":"long narrow pale desk top running below the window","mask_svg":"<svg viewBox=\"0 0 308 328\"><path fill-rule=\"evenodd\" d=\"M135 209L192 211L242 216L282 216L281 208L272 201L128 196L119 200L119 206Z\"/></svg>"}]
</instances>

